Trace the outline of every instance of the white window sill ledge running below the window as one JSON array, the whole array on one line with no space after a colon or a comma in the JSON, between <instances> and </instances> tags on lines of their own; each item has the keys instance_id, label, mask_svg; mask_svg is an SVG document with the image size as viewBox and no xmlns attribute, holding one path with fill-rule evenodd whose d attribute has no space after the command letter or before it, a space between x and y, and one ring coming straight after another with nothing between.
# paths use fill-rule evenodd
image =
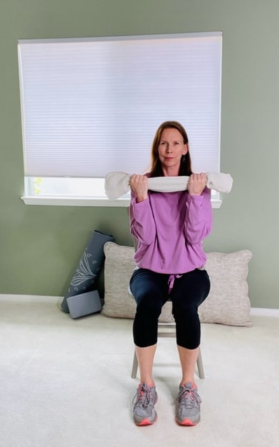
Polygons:
<instances>
[{"instance_id":1,"label":"white window sill ledge running below the window","mask_svg":"<svg viewBox=\"0 0 279 447\"><path fill-rule=\"evenodd\" d=\"M109 200L107 198L91 197L54 197L54 196L22 196L25 205L50 205L66 207L127 207L130 203L128 198ZM211 199L213 208L220 208L222 200Z\"/></svg>"}]
</instances>

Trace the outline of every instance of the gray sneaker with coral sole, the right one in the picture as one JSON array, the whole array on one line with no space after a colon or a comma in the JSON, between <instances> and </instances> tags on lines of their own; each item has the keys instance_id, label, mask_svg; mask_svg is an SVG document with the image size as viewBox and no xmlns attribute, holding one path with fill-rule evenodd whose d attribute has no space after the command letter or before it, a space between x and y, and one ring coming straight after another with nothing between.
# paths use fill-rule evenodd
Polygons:
<instances>
[{"instance_id":1,"label":"gray sneaker with coral sole, the right one in the picture","mask_svg":"<svg viewBox=\"0 0 279 447\"><path fill-rule=\"evenodd\" d=\"M176 399L176 422L181 425L196 425L199 422L200 403L202 399L197 393L197 386L193 383L184 383L179 386L179 395Z\"/></svg>"}]
</instances>

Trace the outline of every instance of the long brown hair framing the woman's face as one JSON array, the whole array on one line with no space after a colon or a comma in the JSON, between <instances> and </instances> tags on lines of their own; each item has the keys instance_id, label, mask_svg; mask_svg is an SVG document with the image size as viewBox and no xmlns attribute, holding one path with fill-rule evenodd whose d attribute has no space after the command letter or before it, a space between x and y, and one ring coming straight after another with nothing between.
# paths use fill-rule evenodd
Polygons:
<instances>
[{"instance_id":1,"label":"long brown hair framing the woman's face","mask_svg":"<svg viewBox=\"0 0 279 447\"><path fill-rule=\"evenodd\" d=\"M185 155L181 157L179 175L191 175L192 174L191 158L189 154L188 135L186 133L186 130L183 128L182 124L180 124L177 121L165 121L158 127L151 146L150 177L163 176L162 165L158 156L158 146L160 143L162 132L165 129L176 129L181 133L183 137L183 143L184 145L187 145L188 151Z\"/></svg>"}]
</instances>

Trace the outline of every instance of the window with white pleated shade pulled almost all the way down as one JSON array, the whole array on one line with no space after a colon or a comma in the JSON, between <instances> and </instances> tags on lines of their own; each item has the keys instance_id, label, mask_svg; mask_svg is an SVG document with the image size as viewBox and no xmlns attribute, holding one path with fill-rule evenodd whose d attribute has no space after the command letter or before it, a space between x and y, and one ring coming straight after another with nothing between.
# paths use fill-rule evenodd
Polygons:
<instances>
[{"instance_id":1,"label":"window with white pleated shade pulled almost all the way down","mask_svg":"<svg viewBox=\"0 0 279 447\"><path fill-rule=\"evenodd\" d=\"M220 32L19 41L25 202L126 203L105 198L105 175L146 170L169 119L193 170L218 172L221 57Z\"/></svg>"}]
</instances>

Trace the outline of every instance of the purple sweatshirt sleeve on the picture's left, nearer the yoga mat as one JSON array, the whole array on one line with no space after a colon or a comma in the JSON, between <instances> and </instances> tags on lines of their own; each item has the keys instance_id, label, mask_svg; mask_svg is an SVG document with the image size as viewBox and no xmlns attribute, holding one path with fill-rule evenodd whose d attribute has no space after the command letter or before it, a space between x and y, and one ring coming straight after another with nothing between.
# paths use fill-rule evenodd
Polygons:
<instances>
[{"instance_id":1,"label":"purple sweatshirt sleeve on the picture's left, nearer the yoga mat","mask_svg":"<svg viewBox=\"0 0 279 447\"><path fill-rule=\"evenodd\" d=\"M151 244L156 237L156 226L149 198L137 203L135 193L131 191L129 214L131 235L133 235L137 241L142 242L142 244Z\"/></svg>"}]
</instances>

